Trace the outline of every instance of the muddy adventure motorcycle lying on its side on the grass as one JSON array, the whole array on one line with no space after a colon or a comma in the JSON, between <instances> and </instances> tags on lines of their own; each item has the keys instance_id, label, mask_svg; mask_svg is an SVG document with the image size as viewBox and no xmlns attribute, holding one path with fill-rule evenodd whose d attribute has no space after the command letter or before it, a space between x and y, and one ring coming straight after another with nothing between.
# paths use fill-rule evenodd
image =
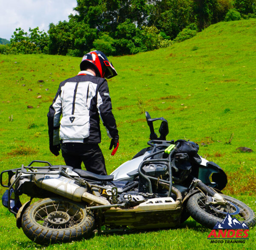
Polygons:
<instances>
[{"instance_id":1,"label":"muddy adventure motorcycle lying on its side on the grass","mask_svg":"<svg viewBox=\"0 0 256 250\"><path fill-rule=\"evenodd\" d=\"M211 229L228 213L247 227L256 224L250 207L221 193L227 175L198 155L198 144L166 141L166 119L151 119L146 112L146 120L149 147L111 175L47 161L1 172L0 184L7 188L3 205L15 215L17 227L44 245L87 239L103 225L112 231L178 227L189 216ZM153 126L158 120L159 138ZM23 194L30 199L22 205ZM32 203L33 198L41 199Z\"/></svg>"}]
</instances>

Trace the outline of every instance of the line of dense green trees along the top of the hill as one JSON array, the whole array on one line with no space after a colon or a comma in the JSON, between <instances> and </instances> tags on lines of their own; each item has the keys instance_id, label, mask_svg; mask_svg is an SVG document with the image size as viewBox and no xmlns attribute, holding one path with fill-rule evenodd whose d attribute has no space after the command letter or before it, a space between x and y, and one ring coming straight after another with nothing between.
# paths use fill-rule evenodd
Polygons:
<instances>
[{"instance_id":1,"label":"line of dense green trees along the top of the hill","mask_svg":"<svg viewBox=\"0 0 256 250\"><path fill-rule=\"evenodd\" d=\"M159 49L220 21L256 17L256 0L77 0L69 21L17 28L2 54L127 55Z\"/></svg>"}]
</instances>

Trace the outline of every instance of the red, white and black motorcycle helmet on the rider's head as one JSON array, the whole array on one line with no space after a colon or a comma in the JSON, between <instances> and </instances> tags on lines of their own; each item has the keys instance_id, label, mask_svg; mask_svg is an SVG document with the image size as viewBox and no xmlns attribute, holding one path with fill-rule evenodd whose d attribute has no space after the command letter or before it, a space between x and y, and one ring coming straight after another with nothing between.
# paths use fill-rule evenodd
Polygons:
<instances>
[{"instance_id":1,"label":"red, white and black motorcycle helmet on the rider's head","mask_svg":"<svg viewBox=\"0 0 256 250\"><path fill-rule=\"evenodd\" d=\"M117 75L112 63L101 51L94 50L83 56L80 63L80 69L85 70L88 67L93 67L96 71L96 76L101 78L112 78Z\"/></svg>"}]
</instances>

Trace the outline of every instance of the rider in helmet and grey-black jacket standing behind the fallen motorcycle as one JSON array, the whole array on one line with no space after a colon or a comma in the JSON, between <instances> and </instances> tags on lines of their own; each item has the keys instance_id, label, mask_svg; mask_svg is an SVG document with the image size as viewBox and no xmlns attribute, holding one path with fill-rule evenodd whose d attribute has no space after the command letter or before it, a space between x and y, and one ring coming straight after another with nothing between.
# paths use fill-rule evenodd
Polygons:
<instances>
[{"instance_id":1,"label":"rider in helmet and grey-black jacket standing behind the fallen motorcycle","mask_svg":"<svg viewBox=\"0 0 256 250\"><path fill-rule=\"evenodd\" d=\"M107 79L117 75L108 58L100 51L84 55L81 71L60 83L49 107L48 132L50 151L58 156L61 149L67 166L107 175L105 159L99 147L100 118L111 138L111 155L119 146L116 120L112 113ZM60 117L62 118L60 121ZM61 140L60 140L61 139Z\"/></svg>"}]
</instances>

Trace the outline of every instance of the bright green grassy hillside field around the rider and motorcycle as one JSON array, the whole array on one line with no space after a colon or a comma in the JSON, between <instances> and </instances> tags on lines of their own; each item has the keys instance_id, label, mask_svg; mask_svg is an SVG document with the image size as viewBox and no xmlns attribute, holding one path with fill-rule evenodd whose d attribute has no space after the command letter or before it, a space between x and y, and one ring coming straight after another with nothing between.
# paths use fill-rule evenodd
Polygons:
<instances>
[{"instance_id":1,"label":"bright green grassy hillside field around the rider and motorcycle","mask_svg":"<svg viewBox=\"0 0 256 250\"><path fill-rule=\"evenodd\" d=\"M199 154L228 175L225 194L256 210L256 19L217 23L166 49L111 57L118 76L108 80L119 129L111 156L102 128L108 173L147 147L145 111L169 122L169 140L190 139ZM81 58L0 55L0 170L32 160L64 164L49 151L47 112L58 84L79 72ZM28 108L32 106L33 108ZM160 124L159 124L160 125ZM230 136L233 139L230 142ZM240 152L248 147L253 152ZM0 195L5 190L0 188ZM41 249L0 206L0 249ZM102 235L45 249L255 249L256 229L244 244L210 244L211 230L192 218L180 228Z\"/></svg>"}]
</instances>

